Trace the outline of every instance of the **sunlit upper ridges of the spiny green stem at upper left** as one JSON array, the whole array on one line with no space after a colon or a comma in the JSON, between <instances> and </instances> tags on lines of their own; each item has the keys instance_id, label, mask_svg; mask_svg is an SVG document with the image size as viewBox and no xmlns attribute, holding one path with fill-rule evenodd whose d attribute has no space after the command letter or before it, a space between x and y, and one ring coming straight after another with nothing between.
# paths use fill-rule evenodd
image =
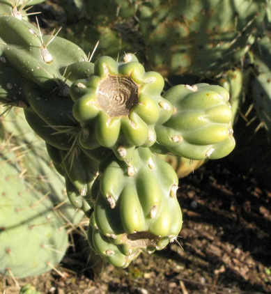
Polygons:
<instances>
[{"instance_id":1,"label":"sunlit upper ridges of the spiny green stem at upper left","mask_svg":"<svg viewBox=\"0 0 271 294\"><path fill-rule=\"evenodd\" d=\"M88 60L74 43L53 34L42 36L36 26L15 17L0 17L0 38L6 43L3 57L8 63L50 91L69 86L68 77L63 77L68 65Z\"/></svg>"}]
</instances>

